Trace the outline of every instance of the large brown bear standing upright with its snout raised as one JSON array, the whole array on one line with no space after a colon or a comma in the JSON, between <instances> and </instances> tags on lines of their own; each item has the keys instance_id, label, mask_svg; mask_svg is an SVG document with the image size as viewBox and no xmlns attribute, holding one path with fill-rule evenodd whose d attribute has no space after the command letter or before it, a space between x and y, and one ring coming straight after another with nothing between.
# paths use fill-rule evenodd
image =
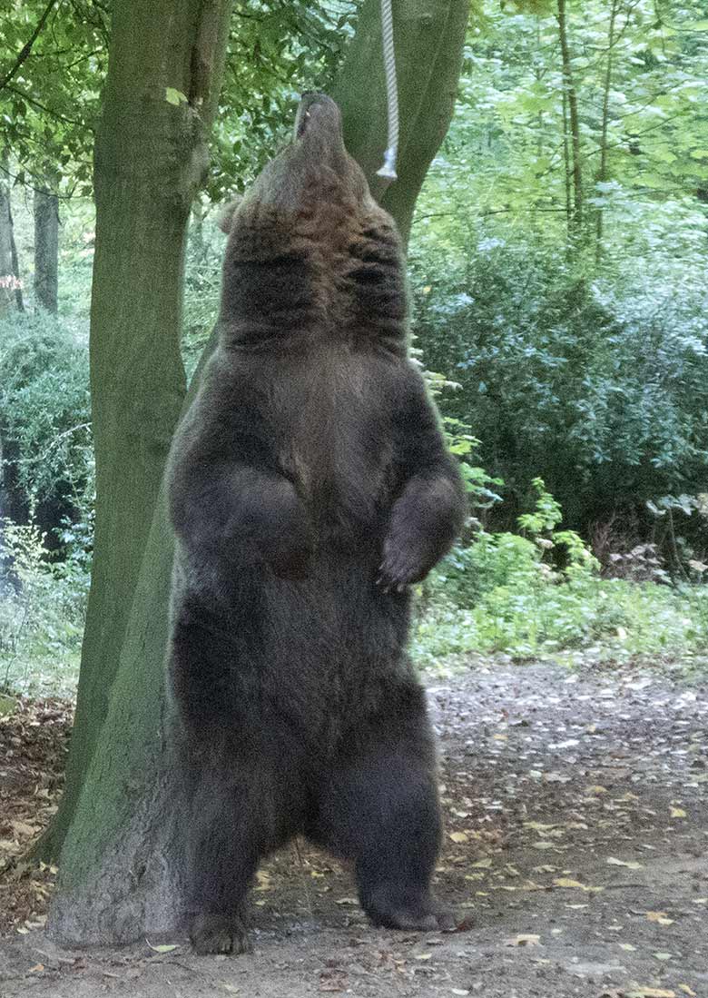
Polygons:
<instances>
[{"instance_id":1,"label":"large brown bear standing upright with its snout raised","mask_svg":"<svg viewBox=\"0 0 708 998\"><path fill-rule=\"evenodd\" d=\"M464 488L408 358L399 237L331 99L304 95L227 229L218 343L169 470L191 939L243 951L258 863L297 834L352 861L375 924L451 927L406 643Z\"/></svg>"}]
</instances>

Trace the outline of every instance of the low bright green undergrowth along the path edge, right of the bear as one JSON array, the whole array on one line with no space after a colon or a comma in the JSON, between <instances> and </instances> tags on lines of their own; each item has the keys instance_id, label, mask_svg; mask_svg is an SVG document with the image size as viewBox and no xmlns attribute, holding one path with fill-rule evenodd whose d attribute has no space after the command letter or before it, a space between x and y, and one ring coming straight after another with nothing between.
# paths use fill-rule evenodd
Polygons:
<instances>
[{"instance_id":1,"label":"low bright green undergrowth along the path edge, right of the bear","mask_svg":"<svg viewBox=\"0 0 708 998\"><path fill-rule=\"evenodd\" d=\"M413 654L423 666L470 654L518 660L583 655L702 654L708 587L602 579L581 538L560 530L542 480L519 517L526 536L482 531L456 549L423 588Z\"/></svg>"}]
</instances>

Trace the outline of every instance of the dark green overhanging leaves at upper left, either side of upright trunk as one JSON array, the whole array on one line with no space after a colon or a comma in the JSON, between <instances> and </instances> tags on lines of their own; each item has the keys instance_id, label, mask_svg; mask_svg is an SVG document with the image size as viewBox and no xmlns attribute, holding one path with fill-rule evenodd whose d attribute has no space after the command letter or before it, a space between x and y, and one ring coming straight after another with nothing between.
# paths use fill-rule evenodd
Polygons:
<instances>
[{"instance_id":1,"label":"dark green overhanging leaves at upper left, either side of upright trunk","mask_svg":"<svg viewBox=\"0 0 708 998\"><path fill-rule=\"evenodd\" d=\"M16 181L45 187L48 176L65 195L92 192L92 148L108 65L110 9L103 3L55 3L29 54L0 87L0 150L11 151ZM356 3L313 5L297 0L234 4L224 85L212 135L209 196L221 200L244 184L283 141L297 94L326 87L351 36ZM12 0L0 12L5 58L12 72L47 0ZM179 102L174 88L168 99ZM1 165L1 164L0 164Z\"/></svg>"}]
</instances>

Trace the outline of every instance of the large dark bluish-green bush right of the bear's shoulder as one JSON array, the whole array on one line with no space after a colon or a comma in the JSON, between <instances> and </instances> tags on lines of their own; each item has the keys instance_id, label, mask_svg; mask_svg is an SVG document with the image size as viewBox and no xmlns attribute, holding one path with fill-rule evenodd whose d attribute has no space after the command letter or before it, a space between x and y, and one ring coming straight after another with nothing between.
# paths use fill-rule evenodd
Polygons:
<instances>
[{"instance_id":1,"label":"large dark bluish-green bush right of the bear's shoulder","mask_svg":"<svg viewBox=\"0 0 708 998\"><path fill-rule=\"evenodd\" d=\"M500 230L500 232L502 232ZM425 361L449 415L507 483L511 526L540 474L568 523L695 494L708 473L708 300L636 274L590 280L531 233L477 239L446 265L412 254Z\"/></svg>"}]
</instances>

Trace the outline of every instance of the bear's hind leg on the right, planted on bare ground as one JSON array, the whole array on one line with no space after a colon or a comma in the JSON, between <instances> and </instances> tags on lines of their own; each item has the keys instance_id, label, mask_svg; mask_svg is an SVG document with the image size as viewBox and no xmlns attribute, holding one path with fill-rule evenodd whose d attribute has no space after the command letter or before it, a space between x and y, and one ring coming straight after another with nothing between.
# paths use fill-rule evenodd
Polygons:
<instances>
[{"instance_id":1,"label":"bear's hind leg on the right, planted on bare ground","mask_svg":"<svg viewBox=\"0 0 708 998\"><path fill-rule=\"evenodd\" d=\"M361 904L375 925L454 928L454 915L431 892L441 816L425 714L390 718L370 732L320 791L315 838L354 860Z\"/></svg>"}]
</instances>

